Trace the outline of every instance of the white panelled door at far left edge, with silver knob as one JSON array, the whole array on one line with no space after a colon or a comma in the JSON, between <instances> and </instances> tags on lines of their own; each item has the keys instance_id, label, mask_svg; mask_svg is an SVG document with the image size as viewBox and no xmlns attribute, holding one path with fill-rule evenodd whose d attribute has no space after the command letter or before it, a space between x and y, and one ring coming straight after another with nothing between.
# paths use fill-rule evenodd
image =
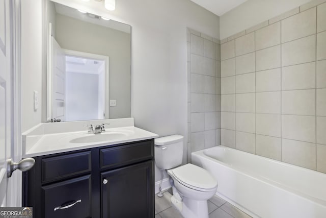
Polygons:
<instances>
[{"instance_id":1,"label":"white panelled door at far left edge, with silver knob","mask_svg":"<svg viewBox=\"0 0 326 218\"><path fill-rule=\"evenodd\" d=\"M17 206L17 195L13 188L17 184L17 175L7 177L7 159L15 157L14 141L11 136L15 135L12 101L14 101L11 87L13 80L13 51L11 50L13 34L10 27L13 25L13 1L0 0L0 205ZM16 188L16 187L15 187ZM16 188L17 189L17 188ZM19 188L18 188L19 190Z\"/></svg>"}]
</instances>

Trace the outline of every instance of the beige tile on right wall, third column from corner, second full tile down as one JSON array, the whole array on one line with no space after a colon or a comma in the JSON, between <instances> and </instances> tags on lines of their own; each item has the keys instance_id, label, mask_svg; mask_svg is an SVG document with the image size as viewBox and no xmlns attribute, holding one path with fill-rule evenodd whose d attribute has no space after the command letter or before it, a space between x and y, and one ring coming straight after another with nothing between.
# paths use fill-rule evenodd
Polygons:
<instances>
[{"instance_id":1,"label":"beige tile on right wall, third column from corner, second full tile down","mask_svg":"<svg viewBox=\"0 0 326 218\"><path fill-rule=\"evenodd\" d=\"M281 46L256 51L256 71L281 67Z\"/></svg>"}]
</instances>

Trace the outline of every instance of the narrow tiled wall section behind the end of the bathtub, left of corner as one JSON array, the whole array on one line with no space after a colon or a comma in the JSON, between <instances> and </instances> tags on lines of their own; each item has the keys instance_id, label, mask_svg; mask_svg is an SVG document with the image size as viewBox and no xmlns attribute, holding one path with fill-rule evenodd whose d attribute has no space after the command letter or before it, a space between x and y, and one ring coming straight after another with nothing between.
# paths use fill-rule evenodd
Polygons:
<instances>
[{"instance_id":1,"label":"narrow tiled wall section behind the end of the bathtub, left of corner","mask_svg":"<svg viewBox=\"0 0 326 218\"><path fill-rule=\"evenodd\" d=\"M191 152L220 145L220 40L187 29L188 143Z\"/></svg>"}]
</instances>

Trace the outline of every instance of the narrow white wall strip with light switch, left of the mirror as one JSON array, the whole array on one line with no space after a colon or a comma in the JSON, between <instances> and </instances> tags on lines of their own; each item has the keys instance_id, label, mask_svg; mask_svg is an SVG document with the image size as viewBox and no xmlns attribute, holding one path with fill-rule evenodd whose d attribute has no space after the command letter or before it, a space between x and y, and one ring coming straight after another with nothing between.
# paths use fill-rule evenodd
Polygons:
<instances>
[{"instance_id":1,"label":"narrow white wall strip with light switch, left of the mirror","mask_svg":"<svg viewBox=\"0 0 326 218\"><path fill-rule=\"evenodd\" d=\"M42 117L42 1L21 1L22 132L41 123ZM39 109L34 111L34 90Z\"/></svg>"}]
</instances>

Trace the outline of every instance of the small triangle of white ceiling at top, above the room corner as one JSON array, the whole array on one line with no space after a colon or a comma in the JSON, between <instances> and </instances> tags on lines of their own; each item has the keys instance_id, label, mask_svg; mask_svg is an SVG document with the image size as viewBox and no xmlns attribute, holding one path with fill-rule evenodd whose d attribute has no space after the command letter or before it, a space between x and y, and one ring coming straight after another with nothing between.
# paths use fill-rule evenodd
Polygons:
<instances>
[{"instance_id":1,"label":"small triangle of white ceiling at top, above the room corner","mask_svg":"<svg viewBox=\"0 0 326 218\"><path fill-rule=\"evenodd\" d=\"M233 8L241 5L244 2L247 2L247 0L191 0L191 1L218 16L222 16L226 12L231 11Z\"/></svg>"}]
</instances>

